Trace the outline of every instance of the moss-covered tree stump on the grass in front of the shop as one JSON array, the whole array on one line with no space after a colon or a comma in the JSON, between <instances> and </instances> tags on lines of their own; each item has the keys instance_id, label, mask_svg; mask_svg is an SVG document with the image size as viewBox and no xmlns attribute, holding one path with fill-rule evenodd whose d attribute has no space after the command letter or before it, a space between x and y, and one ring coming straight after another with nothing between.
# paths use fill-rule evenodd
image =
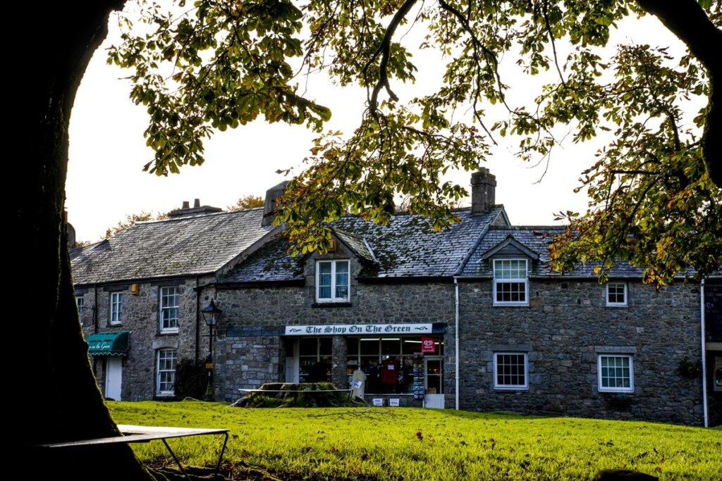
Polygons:
<instances>
[{"instance_id":1,"label":"moss-covered tree stump on the grass in front of the shop","mask_svg":"<svg viewBox=\"0 0 722 481\"><path fill-rule=\"evenodd\" d=\"M267 391L267 392L264 392ZM362 403L349 399L347 391L339 391L330 382L270 382L259 391L233 403L236 407L344 407Z\"/></svg>"}]
</instances>

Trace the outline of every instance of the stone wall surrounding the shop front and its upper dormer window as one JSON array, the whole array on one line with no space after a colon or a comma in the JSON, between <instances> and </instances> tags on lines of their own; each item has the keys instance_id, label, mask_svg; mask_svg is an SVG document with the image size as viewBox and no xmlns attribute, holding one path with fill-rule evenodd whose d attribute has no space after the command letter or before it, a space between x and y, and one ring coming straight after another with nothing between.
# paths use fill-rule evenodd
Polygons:
<instances>
[{"instance_id":1,"label":"stone wall surrounding the shop front and its upper dormer window","mask_svg":"<svg viewBox=\"0 0 722 481\"><path fill-rule=\"evenodd\" d=\"M305 285L298 287L218 288L212 294L223 309L219 329L219 353L223 351L223 372L219 371L217 392L225 393L225 400L238 399L239 388L256 388L265 382L285 380L286 347L280 337L225 336L232 327L277 327L313 324L359 323L432 323L448 325L445 335L445 353L453 358L453 284L359 283L357 275L361 265L355 257L338 252L321 258L351 259L350 302L340 305L316 303L316 256L305 263ZM266 343L266 344L264 344ZM333 340L333 368L331 376L339 387L346 384L345 338ZM260 346L267 346L261 348ZM249 364L262 359L258 364ZM250 371L250 372L249 372ZM453 392L453 375L447 376L445 389ZM219 396L220 399L220 396Z\"/></svg>"}]
</instances>

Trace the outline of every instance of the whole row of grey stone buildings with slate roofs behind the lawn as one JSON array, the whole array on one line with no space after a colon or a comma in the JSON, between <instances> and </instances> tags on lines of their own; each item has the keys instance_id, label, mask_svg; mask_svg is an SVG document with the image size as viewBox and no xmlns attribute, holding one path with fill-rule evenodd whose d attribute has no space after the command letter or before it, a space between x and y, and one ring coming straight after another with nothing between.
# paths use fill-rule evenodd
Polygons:
<instances>
[{"instance_id":1,"label":"whole row of grey stone buildings with slate roofs behind the lawn","mask_svg":"<svg viewBox=\"0 0 722 481\"><path fill-rule=\"evenodd\" d=\"M553 273L560 228L512 226L495 186L474 173L443 231L344 217L325 255L287 254L270 225L283 185L265 209L186 206L74 252L101 387L173 397L175 363L206 356L213 299L217 400L270 381L347 389L356 373L383 405L721 423L722 283L656 291L624 262L604 285L589 267Z\"/></svg>"}]
</instances>

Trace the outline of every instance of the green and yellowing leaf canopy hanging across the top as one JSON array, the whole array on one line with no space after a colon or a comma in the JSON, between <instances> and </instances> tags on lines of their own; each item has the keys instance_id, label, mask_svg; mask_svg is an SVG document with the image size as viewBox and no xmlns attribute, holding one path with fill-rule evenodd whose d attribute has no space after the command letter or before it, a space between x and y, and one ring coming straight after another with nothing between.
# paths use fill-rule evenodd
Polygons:
<instances>
[{"instance_id":1,"label":"green and yellowing leaf canopy hanging across the top","mask_svg":"<svg viewBox=\"0 0 722 481\"><path fill-rule=\"evenodd\" d=\"M645 11L686 43L684 56L608 45L619 22ZM612 140L582 178L588 211L560 214L570 228L554 267L593 262L604 280L621 258L663 285L722 265L718 1L199 0L179 15L151 4L142 22L149 32L126 32L109 59L134 69L150 172L201 164L213 129L261 116L320 134L276 218L297 251L327 247L328 222L348 211L388 221L399 197L436 229L458 221L451 206L466 190L443 175L477 169L500 136L518 139L521 158L548 161L567 133L582 142L606 132ZM397 85L419 73L399 27L425 28L419 47L446 62L438 90L404 102ZM292 62L367 90L353 133L323 131L331 111L299 94ZM543 79L531 101L508 87L509 62ZM690 110L699 110L692 123Z\"/></svg>"}]
</instances>

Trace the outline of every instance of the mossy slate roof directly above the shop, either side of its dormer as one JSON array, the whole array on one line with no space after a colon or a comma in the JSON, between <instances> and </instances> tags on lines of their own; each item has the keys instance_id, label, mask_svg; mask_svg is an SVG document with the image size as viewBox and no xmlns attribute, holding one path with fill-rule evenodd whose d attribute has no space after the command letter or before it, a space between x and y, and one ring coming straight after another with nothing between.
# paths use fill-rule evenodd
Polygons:
<instances>
[{"instance_id":1,"label":"mossy slate roof directly above the shop, either side of its dormer","mask_svg":"<svg viewBox=\"0 0 722 481\"><path fill-rule=\"evenodd\" d=\"M397 214L386 226L347 216L335 221L333 228L339 239L353 244L349 247L357 255L375 257L376 262L362 270L362 277L448 277L456 274L490 224L499 219L506 222L502 207L473 216L468 210L456 214L461 224L439 232L431 229L427 219L412 214ZM285 251L284 240L270 242L232 269L221 282L302 278L303 258L290 257Z\"/></svg>"}]
</instances>

